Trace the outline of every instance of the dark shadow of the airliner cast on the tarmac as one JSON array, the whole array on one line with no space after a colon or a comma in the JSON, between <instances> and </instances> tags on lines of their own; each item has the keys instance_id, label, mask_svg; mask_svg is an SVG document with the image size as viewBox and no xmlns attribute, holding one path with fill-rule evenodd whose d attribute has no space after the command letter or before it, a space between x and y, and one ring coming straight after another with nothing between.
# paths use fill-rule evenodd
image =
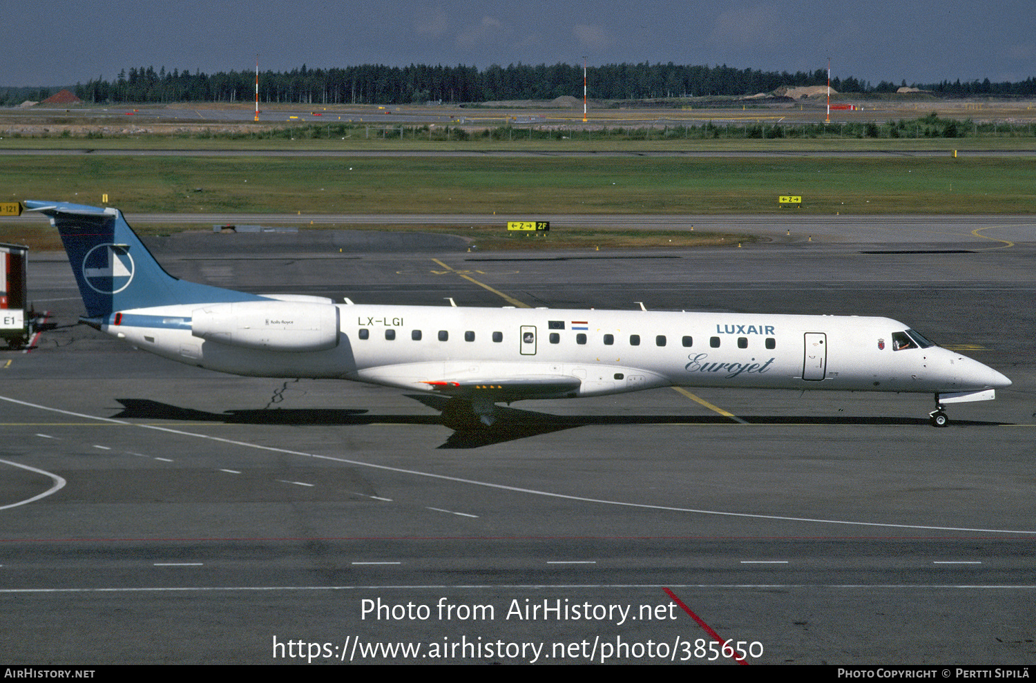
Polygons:
<instances>
[{"instance_id":1,"label":"dark shadow of the airliner cast on the tarmac","mask_svg":"<svg viewBox=\"0 0 1036 683\"><path fill-rule=\"evenodd\" d=\"M408 395L425 405L441 410L445 401L441 396ZM441 425L442 419L435 415L372 415L366 408L261 408L207 412L184 408L169 403L161 403L143 398L116 399L122 404L121 412L113 416L126 420L176 420L182 422L219 422L242 425L370 425L407 424ZM882 426L924 426L923 418L858 417L858 416L740 416L749 425L882 425ZM474 431L455 431L439 448L479 448L517 440L540 434L549 434L576 427L595 425L733 425L722 416L679 416L679 415L636 415L636 416L555 416L533 410L497 407L497 420L491 427ZM1000 423L956 420L954 425L995 426Z\"/></svg>"}]
</instances>

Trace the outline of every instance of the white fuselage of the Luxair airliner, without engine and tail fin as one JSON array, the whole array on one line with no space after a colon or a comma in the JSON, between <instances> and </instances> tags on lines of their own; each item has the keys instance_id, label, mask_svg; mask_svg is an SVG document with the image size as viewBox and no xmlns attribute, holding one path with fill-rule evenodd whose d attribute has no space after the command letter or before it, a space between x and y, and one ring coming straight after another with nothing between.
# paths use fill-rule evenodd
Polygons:
<instances>
[{"instance_id":1,"label":"white fuselage of the Luxair airliner, without engine and tail fin","mask_svg":"<svg viewBox=\"0 0 1036 683\"><path fill-rule=\"evenodd\" d=\"M939 346L893 348L893 334L908 326L890 318L324 306L336 307L328 312L338 324L334 347L324 350L203 339L205 333L192 329L199 305L123 311L119 324L102 329L153 353L239 375L341 378L418 391L442 382L515 383L515 392L494 400L522 398L523 383L558 378L568 383L551 397L667 386L938 395L1010 383Z\"/></svg>"}]
</instances>

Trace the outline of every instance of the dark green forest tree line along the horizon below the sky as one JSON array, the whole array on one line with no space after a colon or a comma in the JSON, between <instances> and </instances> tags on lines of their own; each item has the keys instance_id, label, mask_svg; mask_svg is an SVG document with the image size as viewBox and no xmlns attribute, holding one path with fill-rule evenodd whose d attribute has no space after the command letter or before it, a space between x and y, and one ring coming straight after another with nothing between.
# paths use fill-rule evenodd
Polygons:
<instances>
[{"instance_id":1,"label":"dark green forest tree line along the horizon below the sky","mask_svg":"<svg viewBox=\"0 0 1036 683\"><path fill-rule=\"evenodd\" d=\"M780 86L824 85L827 72L762 72L731 66L667 64L605 64L586 72L589 95L598 99L739 96L770 92ZM474 66L385 66L362 64L341 68L267 70L259 77L262 103L401 105L425 102L477 103L494 99L553 99L582 94L583 69L573 64L493 64ZM899 86L882 81L835 77L840 92L894 92ZM906 85L902 81L901 85ZM946 96L1036 95L1036 79L1011 83L959 80L912 84ZM123 69L114 81L102 77L75 86L77 96L88 103L248 102L255 96L255 72L204 74L189 69L155 70L153 66ZM0 89L0 105L50 94L48 88Z\"/></svg>"}]
</instances>

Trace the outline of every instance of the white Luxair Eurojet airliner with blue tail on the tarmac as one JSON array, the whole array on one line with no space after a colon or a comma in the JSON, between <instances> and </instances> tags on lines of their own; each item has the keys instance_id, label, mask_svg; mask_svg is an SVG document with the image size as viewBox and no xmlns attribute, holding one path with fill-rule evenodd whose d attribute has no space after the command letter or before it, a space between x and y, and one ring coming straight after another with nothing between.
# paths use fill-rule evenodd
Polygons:
<instances>
[{"instance_id":1,"label":"white Luxair Eurojet airliner with blue tail on the tarmac","mask_svg":"<svg viewBox=\"0 0 1036 683\"><path fill-rule=\"evenodd\" d=\"M30 201L58 228L87 315L138 348L239 375L351 379L449 397L443 423L494 404L657 387L823 389L980 401L1011 381L889 318L336 304L178 280L115 208Z\"/></svg>"}]
</instances>

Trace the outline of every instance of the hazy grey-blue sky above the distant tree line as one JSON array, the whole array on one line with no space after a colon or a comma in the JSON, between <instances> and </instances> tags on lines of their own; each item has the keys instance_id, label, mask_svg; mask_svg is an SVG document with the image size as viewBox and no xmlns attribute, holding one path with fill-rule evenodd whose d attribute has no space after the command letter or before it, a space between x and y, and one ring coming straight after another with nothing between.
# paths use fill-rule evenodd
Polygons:
<instances>
[{"instance_id":1,"label":"hazy grey-blue sky above the distant tree line","mask_svg":"<svg viewBox=\"0 0 1036 683\"><path fill-rule=\"evenodd\" d=\"M879 81L1036 76L1036 2L584 0L339 3L0 0L0 85L113 80L132 66L263 70L523 62L726 64Z\"/></svg>"}]
</instances>

